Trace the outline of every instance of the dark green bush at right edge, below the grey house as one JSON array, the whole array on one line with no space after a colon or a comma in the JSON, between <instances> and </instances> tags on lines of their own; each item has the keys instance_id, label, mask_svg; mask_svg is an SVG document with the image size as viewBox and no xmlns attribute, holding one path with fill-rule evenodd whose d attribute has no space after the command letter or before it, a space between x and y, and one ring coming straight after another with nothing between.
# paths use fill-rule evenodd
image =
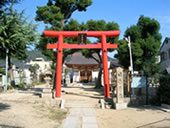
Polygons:
<instances>
[{"instance_id":1,"label":"dark green bush at right edge, below the grey house","mask_svg":"<svg viewBox=\"0 0 170 128\"><path fill-rule=\"evenodd\" d=\"M160 86L158 88L159 103L170 105L170 75L165 74L160 78Z\"/></svg>"}]
</instances>

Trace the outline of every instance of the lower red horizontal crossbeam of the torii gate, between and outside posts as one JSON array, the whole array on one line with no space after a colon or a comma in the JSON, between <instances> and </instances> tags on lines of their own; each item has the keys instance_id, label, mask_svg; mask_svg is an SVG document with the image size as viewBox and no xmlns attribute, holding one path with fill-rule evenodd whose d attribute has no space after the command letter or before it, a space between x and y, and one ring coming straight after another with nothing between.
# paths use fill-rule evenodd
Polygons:
<instances>
[{"instance_id":1,"label":"lower red horizontal crossbeam of the torii gate, between and outside posts","mask_svg":"<svg viewBox=\"0 0 170 128\"><path fill-rule=\"evenodd\" d=\"M71 48L71 49L101 49L102 45L101 45L101 43L86 44L86 45L84 45L84 44L80 45L80 44L67 44L67 43L63 43L62 47L63 48ZM58 43L47 44L47 49L57 49L57 48L58 48ZM115 48L117 48L117 44L107 43L106 44L106 48L115 49Z\"/></svg>"}]
</instances>

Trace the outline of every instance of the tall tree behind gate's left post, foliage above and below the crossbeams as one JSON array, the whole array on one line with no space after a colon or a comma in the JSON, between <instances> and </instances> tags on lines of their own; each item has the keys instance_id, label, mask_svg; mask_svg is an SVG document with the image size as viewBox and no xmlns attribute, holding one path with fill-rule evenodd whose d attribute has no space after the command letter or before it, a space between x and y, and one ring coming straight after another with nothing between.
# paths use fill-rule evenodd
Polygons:
<instances>
[{"instance_id":1,"label":"tall tree behind gate's left post, foliage above and below the crossbeams","mask_svg":"<svg viewBox=\"0 0 170 128\"><path fill-rule=\"evenodd\" d=\"M47 30L64 30L64 25L75 11L86 11L87 7L91 4L92 0L48 0L46 6L37 7L37 16L35 19L37 21L43 21L47 25ZM37 46L42 53L53 60L53 62L56 61L56 51L47 50L46 45L56 41L56 38L48 38L42 35ZM74 50L64 51L64 57L73 51Z\"/></svg>"}]
</instances>

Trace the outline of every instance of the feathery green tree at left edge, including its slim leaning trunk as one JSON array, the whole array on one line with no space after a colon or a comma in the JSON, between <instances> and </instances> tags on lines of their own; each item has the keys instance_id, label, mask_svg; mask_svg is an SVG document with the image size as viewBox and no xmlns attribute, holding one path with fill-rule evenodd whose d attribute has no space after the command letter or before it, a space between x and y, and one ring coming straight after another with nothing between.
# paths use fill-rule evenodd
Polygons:
<instances>
[{"instance_id":1,"label":"feathery green tree at left edge, including its slim leaning trunk","mask_svg":"<svg viewBox=\"0 0 170 128\"><path fill-rule=\"evenodd\" d=\"M13 5L13 4L12 4ZM11 83L15 86L11 58L26 58L26 48L36 41L36 25L28 23L24 12L18 13L13 6L3 10L0 16L0 56L8 50Z\"/></svg>"}]
</instances>

